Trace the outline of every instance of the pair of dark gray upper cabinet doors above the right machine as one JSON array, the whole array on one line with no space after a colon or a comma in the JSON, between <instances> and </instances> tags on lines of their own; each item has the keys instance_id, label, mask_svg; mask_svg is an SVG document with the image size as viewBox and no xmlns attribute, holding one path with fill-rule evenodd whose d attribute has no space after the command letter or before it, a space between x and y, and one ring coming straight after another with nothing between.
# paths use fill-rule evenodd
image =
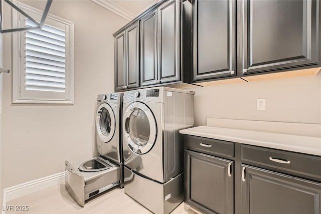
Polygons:
<instances>
[{"instance_id":1,"label":"pair of dark gray upper cabinet doors above the right machine","mask_svg":"<svg viewBox=\"0 0 321 214\"><path fill-rule=\"evenodd\" d=\"M181 2L172 0L141 19L141 85L181 80Z\"/></svg>"}]
</instances>

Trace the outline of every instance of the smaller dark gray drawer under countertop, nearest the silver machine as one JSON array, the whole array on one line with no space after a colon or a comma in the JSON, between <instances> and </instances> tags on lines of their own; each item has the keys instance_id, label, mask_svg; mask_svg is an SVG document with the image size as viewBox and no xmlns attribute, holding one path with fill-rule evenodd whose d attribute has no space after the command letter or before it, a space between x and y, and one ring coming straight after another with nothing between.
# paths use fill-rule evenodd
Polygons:
<instances>
[{"instance_id":1,"label":"smaller dark gray drawer under countertop, nearest the silver machine","mask_svg":"<svg viewBox=\"0 0 321 214\"><path fill-rule=\"evenodd\" d=\"M234 157L234 143L196 136L185 136L185 148L206 154Z\"/></svg>"}]
</instances>

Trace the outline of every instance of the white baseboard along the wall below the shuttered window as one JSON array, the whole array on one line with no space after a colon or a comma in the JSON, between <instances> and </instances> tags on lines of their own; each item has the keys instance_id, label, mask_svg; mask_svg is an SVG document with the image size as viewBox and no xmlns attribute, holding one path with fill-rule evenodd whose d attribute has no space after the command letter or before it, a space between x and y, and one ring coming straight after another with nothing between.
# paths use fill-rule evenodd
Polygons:
<instances>
[{"instance_id":1,"label":"white baseboard along the wall below the shuttered window","mask_svg":"<svg viewBox=\"0 0 321 214\"><path fill-rule=\"evenodd\" d=\"M4 189L2 214L6 213L7 201L65 182L67 171L49 175Z\"/></svg>"}]
</instances>

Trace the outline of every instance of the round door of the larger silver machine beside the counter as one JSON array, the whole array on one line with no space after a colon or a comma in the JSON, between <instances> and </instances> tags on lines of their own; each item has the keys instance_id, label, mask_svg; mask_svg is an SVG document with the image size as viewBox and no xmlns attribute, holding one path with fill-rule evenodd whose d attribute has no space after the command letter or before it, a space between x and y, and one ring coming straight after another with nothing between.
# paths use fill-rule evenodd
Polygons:
<instances>
[{"instance_id":1,"label":"round door of the larger silver machine beside the counter","mask_svg":"<svg viewBox=\"0 0 321 214\"><path fill-rule=\"evenodd\" d=\"M124 112L123 124L128 147L137 154L147 153L157 135L155 117L148 106L140 102L130 104Z\"/></svg>"}]
</instances>

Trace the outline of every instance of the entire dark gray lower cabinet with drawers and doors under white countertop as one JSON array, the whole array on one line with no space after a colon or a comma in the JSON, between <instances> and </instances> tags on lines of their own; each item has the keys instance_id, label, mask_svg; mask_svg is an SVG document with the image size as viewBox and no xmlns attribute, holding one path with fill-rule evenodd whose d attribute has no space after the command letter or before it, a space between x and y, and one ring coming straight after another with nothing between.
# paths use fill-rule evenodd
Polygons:
<instances>
[{"instance_id":1,"label":"entire dark gray lower cabinet with drawers and doors under white countertop","mask_svg":"<svg viewBox=\"0 0 321 214\"><path fill-rule=\"evenodd\" d=\"M215 214L321 214L321 156L184 136L185 203Z\"/></svg>"}]
</instances>

